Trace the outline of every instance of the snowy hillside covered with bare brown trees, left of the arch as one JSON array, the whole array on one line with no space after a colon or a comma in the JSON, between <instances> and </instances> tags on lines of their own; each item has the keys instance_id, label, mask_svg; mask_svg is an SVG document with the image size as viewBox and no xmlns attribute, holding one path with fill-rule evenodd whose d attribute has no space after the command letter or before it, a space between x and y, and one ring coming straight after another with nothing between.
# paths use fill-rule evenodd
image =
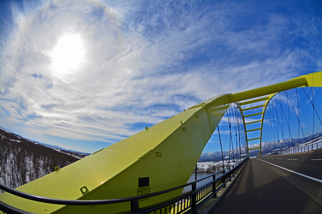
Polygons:
<instances>
[{"instance_id":1,"label":"snowy hillside covered with bare brown trees, left of the arch","mask_svg":"<svg viewBox=\"0 0 322 214\"><path fill-rule=\"evenodd\" d=\"M16 188L89 154L26 139L0 127L0 183ZM0 193L3 193L0 190Z\"/></svg>"}]
</instances>

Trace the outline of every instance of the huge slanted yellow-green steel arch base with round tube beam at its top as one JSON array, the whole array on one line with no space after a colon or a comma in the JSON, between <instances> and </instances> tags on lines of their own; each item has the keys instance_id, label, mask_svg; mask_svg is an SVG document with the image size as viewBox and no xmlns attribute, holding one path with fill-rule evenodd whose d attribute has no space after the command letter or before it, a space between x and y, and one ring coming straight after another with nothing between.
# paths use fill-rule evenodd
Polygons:
<instances>
[{"instance_id":1,"label":"huge slanted yellow-green steel arch base with round tube beam at its top","mask_svg":"<svg viewBox=\"0 0 322 214\"><path fill-rule=\"evenodd\" d=\"M315 77L313 79L315 81ZM305 76L259 89L210 98L16 189L49 198L101 200L153 193L186 184L204 146L231 103L306 86L308 81ZM144 182L139 183L142 180ZM165 201L180 195L181 191L139 201L139 206ZM64 206L30 201L9 193L0 194L0 201L39 214L116 213L130 210L128 202Z\"/></svg>"}]
</instances>

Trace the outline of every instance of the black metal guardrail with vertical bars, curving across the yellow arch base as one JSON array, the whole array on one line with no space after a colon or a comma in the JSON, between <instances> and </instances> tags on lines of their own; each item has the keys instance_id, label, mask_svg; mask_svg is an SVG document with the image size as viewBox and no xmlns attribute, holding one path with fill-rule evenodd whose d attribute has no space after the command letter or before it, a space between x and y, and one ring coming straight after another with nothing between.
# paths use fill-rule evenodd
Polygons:
<instances>
[{"instance_id":1,"label":"black metal guardrail with vertical bars, curving across the yellow arch base","mask_svg":"<svg viewBox=\"0 0 322 214\"><path fill-rule=\"evenodd\" d=\"M108 200L64 200L64 199L54 199L54 198L47 198L37 195L32 195L29 193L24 193L10 187L7 187L3 184L0 184L0 189L11 193L13 195L33 200L33 201L40 201L44 203L51 203L51 204L61 204L61 205L102 205L102 204L111 204L111 203L120 203L120 202L127 202L131 203L131 210L123 213L131 213L131 214L147 214L147 213L165 213L167 214L169 211L173 209L173 213L196 213L201 206L203 206L209 199L216 197L216 194L222 187L226 187L226 183L231 180L232 177L235 176L237 171L246 163L249 158L246 158L230 167L227 167L221 171L213 173L212 175L208 175L202 179L199 179L194 182L190 182L188 184L184 184L181 186L177 186L175 188L167 189L164 191L159 191L155 193L150 193L141 196L134 196L128 198L120 198L120 199L108 199ZM227 172L226 172L227 170ZM223 173L222 175L215 177L216 174ZM213 180L196 188L197 183L207 179L209 177L213 177ZM148 197L153 197L156 195L168 193L177 189L184 188L186 186L191 185L192 190L179 195L175 198L172 198L167 201L163 201L148 207L139 208L138 200ZM28 212L25 210L20 210L18 208L12 207L2 201L0 201L0 210L4 211L7 214L34 214L32 212ZM167 211L168 210L168 211Z\"/></svg>"}]
</instances>

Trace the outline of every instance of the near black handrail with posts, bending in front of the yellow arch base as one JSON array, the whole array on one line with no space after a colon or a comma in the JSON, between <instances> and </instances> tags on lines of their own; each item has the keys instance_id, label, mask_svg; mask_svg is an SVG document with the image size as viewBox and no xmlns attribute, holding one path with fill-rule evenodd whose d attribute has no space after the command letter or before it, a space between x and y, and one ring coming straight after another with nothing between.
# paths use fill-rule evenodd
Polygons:
<instances>
[{"instance_id":1,"label":"near black handrail with posts, bending in front of the yellow arch base","mask_svg":"<svg viewBox=\"0 0 322 214\"><path fill-rule=\"evenodd\" d=\"M32 194L29 194L29 193L24 193L24 192L21 192L21 191L12 189L10 187L7 187L7 186L5 186L3 184L0 184L0 189L3 189L3 190L5 190L8 193L11 193L11 194L14 194L16 196L19 196L19 197L22 197L22 198L26 198L26 199L29 199L29 200L40 201L40 202L51 203L51 204L61 204L61 205L102 205L102 204L111 204L111 203L120 203L120 202L130 201L131 202L131 211L126 211L125 213L131 212L131 213L136 213L136 214L144 214L144 213L154 212L155 210L159 210L159 209L165 208L167 206L170 206L171 207L172 204L177 203L178 201L181 201L181 200L185 200L185 199L192 200L193 198L196 197L196 195L198 194L199 191L204 191L203 190L204 188L207 188L210 185L214 185L215 182L217 182L217 181L219 181L221 179L223 179L223 182L219 186L222 185L222 187L225 187L226 186L226 183L230 180L228 178L231 178L232 176L234 176L237 173L237 170L235 170L235 171L232 171L232 170L236 169L236 167L237 167L237 169L239 169L240 167L242 167L242 165L245 163L246 160L248 160L248 158L243 159L242 161L239 161L238 163L233 164L230 167L224 168L223 170L220 170L219 172L213 173L213 174L208 175L208 176L206 176L206 177L204 177L202 179L199 179L197 181L190 182L188 184L184 184L184 185L177 186L177 187L174 187L174 188L171 188L171 189L167 189L167 190L159 191L159 192L155 192L155 193L150 193L150 194L146 194L146 195L142 195L142 196L134 196L134 197L120 198L120 199L107 199L107 200L64 200L64 199L47 198L47 197L32 195ZM232 169L230 169L230 168L232 168ZM220 172L223 172L226 169L229 169L226 173L223 173L222 175L218 176L217 178L215 177L216 174L218 174ZM206 183L206 184L204 184L204 185L196 188L196 183L197 182L200 182L200 181L202 181L204 179L207 179L207 178L209 178L211 176L213 176L213 180L212 181L210 181L210 182L208 182L208 183ZM139 208L139 206L138 206L138 200L139 199L147 198L147 197L152 197L152 196L156 196L156 195L163 194L163 193L167 193L167 192L171 192L171 191L174 191L174 190L177 190L177 189L180 189L180 188L189 186L189 185L192 185L192 187L194 187L194 188L192 188L191 191L189 191L187 193L184 193L182 195L179 195L179 196L177 196L175 198L169 199L168 201L163 201L163 202L160 202L160 203L157 203L157 204L153 204L151 206L144 207L144 208ZM216 193L219 190L220 190L220 188L219 189L216 189L216 190L213 189L211 195L212 196L214 195L214 197L215 197ZM185 209L189 209L189 212L188 213L191 213L194 210L199 209L209 199L210 198L207 197L207 199L204 200L204 201L201 201L201 203L200 203L200 200L199 200L197 206L196 206L196 204L197 204L197 201L196 200L191 201L190 202L190 207L189 208L187 207ZM14 207L12 207L12 206L10 206L10 205L2 202L2 201L0 201L0 208L2 208L0 210L3 210L6 213L10 213L10 214L27 214L27 213L28 214L33 214L31 212L28 212L28 211L24 211L24 210L20 210L20 209L14 208Z\"/></svg>"}]
</instances>

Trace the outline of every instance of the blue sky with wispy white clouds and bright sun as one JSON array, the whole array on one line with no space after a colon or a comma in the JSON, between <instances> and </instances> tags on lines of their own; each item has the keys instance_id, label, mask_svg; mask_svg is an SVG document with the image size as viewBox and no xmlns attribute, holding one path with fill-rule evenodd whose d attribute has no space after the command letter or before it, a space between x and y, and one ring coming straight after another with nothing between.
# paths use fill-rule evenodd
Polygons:
<instances>
[{"instance_id":1,"label":"blue sky with wispy white clouds and bright sun","mask_svg":"<svg viewBox=\"0 0 322 214\"><path fill-rule=\"evenodd\" d=\"M0 126L86 153L207 98L322 71L322 1L0 1L0 10ZM219 150L214 136L204 152Z\"/></svg>"}]
</instances>

